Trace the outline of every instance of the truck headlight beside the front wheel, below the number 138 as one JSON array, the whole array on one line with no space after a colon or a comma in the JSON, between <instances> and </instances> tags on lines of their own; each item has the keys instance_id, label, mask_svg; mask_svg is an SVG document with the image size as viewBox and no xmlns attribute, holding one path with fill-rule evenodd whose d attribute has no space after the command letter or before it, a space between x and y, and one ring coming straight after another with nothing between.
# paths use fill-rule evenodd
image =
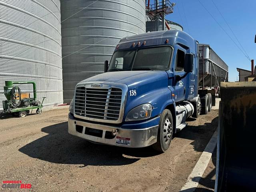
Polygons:
<instances>
[{"instance_id":1,"label":"truck headlight beside the front wheel, below the number 138","mask_svg":"<svg viewBox=\"0 0 256 192\"><path fill-rule=\"evenodd\" d=\"M152 105L149 103L140 105L130 110L126 116L125 121L137 121L148 119L151 116Z\"/></svg>"}]
</instances>

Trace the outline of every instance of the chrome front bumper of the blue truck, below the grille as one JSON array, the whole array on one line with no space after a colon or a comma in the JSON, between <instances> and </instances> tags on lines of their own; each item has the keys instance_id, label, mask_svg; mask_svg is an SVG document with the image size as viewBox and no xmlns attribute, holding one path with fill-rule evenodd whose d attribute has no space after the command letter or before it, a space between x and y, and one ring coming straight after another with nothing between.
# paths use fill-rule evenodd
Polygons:
<instances>
[{"instance_id":1,"label":"chrome front bumper of the blue truck, below the grille","mask_svg":"<svg viewBox=\"0 0 256 192\"><path fill-rule=\"evenodd\" d=\"M76 125L82 126L82 133L76 131ZM102 136L92 136L85 134L86 128L92 128L95 130L102 130ZM106 131L116 132L116 136L112 139L105 138ZM68 133L84 138L86 140L98 143L104 143L108 145L139 148L146 147L154 144L157 139L158 125L144 128L144 129L123 129L116 126L108 126L102 124L94 124L89 122L84 122L80 120L74 120L68 118ZM120 144L118 143L120 138L130 139L130 144Z\"/></svg>"}]
</instances>

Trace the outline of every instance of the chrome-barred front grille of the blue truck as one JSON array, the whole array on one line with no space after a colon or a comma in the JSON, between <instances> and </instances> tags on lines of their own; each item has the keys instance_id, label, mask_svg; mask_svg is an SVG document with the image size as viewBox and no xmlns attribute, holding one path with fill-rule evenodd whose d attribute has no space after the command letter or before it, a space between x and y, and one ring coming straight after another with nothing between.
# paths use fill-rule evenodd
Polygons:
<instances>
[{"instance_id":1,"label":"chrome-barred front grille of the blue truck","mask_svg":"<svg viewBox=\"0 0 256 192\"><path fill-rule=\"evenodd\" d=\"M86 119L116 121L122 107L122 89L120 88L86 88L77 87L75 111Z\"/></svg>"}]
</instances>

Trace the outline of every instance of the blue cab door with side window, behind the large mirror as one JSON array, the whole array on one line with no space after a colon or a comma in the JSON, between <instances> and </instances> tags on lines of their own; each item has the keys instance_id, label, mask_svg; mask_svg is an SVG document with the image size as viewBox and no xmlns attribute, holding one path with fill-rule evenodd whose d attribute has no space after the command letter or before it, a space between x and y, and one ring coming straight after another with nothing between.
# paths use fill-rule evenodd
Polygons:
<instances>
[{"instance_id":1,"label":"blue cab door with side window, behind the large mirror","mask_svg":"<svg viewBox=\"0 0 256 192\"><path fill-rule=\"evenodd\" d=\"M174 49L174 59L173 59L173 72L174 72L174 81L173 81L173 88L175 94L175 102L179 102L185 99L185 94L188 92L186 90L186 84L188 83L188 76L179 80L178 77L182 77L184 72L184 61L185 61L185 53L186 49L182 48L179 45L175 46Z\"/></svg>"}]
</instances>

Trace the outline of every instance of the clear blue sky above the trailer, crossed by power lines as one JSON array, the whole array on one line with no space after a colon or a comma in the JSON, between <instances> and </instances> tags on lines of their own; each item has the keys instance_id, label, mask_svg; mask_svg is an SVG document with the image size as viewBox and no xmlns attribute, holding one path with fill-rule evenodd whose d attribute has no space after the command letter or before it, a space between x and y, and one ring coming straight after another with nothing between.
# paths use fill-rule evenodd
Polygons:
<instances>
[{"instance_id":1,"label":"clear blue sky above the trailer, crossed by power lines","mask_svg":"<svg viewBox=\"0 0 256 192\"><path fill-rule=\"evenodd\" d=\"M212 1L228 22L248 56L255 60L256 0L200 0L236 44L240 46ZM151 0L151 2L153 1ZM181 24L184 31L200 43L210 44L212 49L228 64L229 81L236 81L237 67L251 70L250 61L198 0L171 0L171 2L176 3L174 13L167 15L166 19Z\"/></svg>"}]
</instances>

